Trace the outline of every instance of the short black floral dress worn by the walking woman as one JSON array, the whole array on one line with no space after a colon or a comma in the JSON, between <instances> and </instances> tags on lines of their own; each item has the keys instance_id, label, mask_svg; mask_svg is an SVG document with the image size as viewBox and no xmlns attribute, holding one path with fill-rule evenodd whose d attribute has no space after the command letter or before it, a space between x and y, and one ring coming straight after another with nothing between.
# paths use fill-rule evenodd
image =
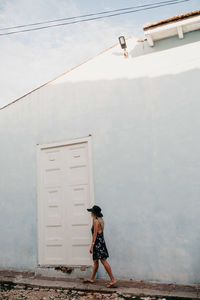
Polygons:
<instances>
[{"instance_id":1,"label":"short black floral dress worn by the walking woman","mask_svg":"<svg viewBox=\"0 0 200 300\"><path fill-rule=\"evenodd\" d=\"M92 234L94 234L94 226L91 228ZM97 232L97 237L93 247L93 260L106 259L109 257L106 243L103 236L103 231L101 233Z\"/></svg>"}]
</instances>

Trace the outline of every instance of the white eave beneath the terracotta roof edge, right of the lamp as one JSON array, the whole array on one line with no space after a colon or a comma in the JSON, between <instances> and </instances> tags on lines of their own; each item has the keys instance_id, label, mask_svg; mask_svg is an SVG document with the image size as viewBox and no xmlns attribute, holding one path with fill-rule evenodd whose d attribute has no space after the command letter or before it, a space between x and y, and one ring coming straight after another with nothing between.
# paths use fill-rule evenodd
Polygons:
<instances>
[{"instance_id":1,"label":"white eave beneath the terracotta roof edge, right of the lamp","mask_svg":"<svg viewBox=\"0 0 200 300\"><path fill-rule=\"evenodd\" d=\"M145 29L145 37L150 46L154 46L154 41L166 39L172 36L184 38L184 33L200 29L200 15L189 19L176 21L169 24L158 25L150 29Z\"/></svg>"}]
</instances>

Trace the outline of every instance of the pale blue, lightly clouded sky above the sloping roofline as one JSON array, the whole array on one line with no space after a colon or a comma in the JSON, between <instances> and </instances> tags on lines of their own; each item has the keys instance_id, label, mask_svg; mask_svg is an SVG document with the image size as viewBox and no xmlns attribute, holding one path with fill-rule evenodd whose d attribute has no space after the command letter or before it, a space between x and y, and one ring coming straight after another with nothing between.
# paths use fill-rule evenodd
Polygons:
<instances>
[{"instance_id":1,"label":"pale blue, lightly clouded sky above the sloping roofline","mask_svg":"<svg viewBox=\"0 0 200 300\"><path fill-rule=\"evenodd\" d=\"M164 0L0 0L0 29ZM142 27L200 9L200 0L40 31L0 36L0 107L118 42L144 38ZM1 33L2 31L0 31Z\"/></svg>"}]
</instances>

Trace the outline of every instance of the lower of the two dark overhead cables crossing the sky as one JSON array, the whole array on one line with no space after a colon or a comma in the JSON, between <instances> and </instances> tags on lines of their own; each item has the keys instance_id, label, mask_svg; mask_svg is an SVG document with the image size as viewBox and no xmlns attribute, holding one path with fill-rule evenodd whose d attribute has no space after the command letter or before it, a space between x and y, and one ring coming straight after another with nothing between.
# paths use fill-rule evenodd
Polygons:
<instances>
[{"instance_id":1,"label":"lower of the two dark overhead cables crossing the sky","mask_svg":"<svg viewBox=\"0 0 200 300\"><path fill-rule=\"evenodd\" d=\"M24 29L24 30L18 30L18 31L10 31L10 32L6 32L6 33L0 33L0 36L11 35L11 34L16 34L16 33L22 33L22 32L28 32L28 31L42 30L42 29L51 28L51 27L67 26L67 25L72 25L72 24L77 24L77 23L82 23L82 22L88 22L88 21L94 21L94 20L100 20L100 19L105 19L105 18L110 18L110 17L116 17L116 16L119 16L119 15L130 14L130 13L134 13L134 12L138 12L138 11L145 11L145 10L159 8L159 7L163 7L163 6L175 5L175 4L188 2L188 1L191 1L191 0L180 0L180 1L177 0L177 1L173 1L173 2L168 1L167 3L165 2L162 5L161 4L159 4L159 5L153 4L152 6L149 6L149 7L130 10L130 11L125 11L125 12L120 12L120 13L115 13L115 14L111 14L111 15L108 15L108 16L100 16L100 17L88 18L88 19L83 19L83 20L78 20L78 21L73 21L73 22L66 22L66 23L61 23L61 24L54 24L54 25L37 27L37 28L30 28L30 29Z\"/></svg>"}]
</instances>

